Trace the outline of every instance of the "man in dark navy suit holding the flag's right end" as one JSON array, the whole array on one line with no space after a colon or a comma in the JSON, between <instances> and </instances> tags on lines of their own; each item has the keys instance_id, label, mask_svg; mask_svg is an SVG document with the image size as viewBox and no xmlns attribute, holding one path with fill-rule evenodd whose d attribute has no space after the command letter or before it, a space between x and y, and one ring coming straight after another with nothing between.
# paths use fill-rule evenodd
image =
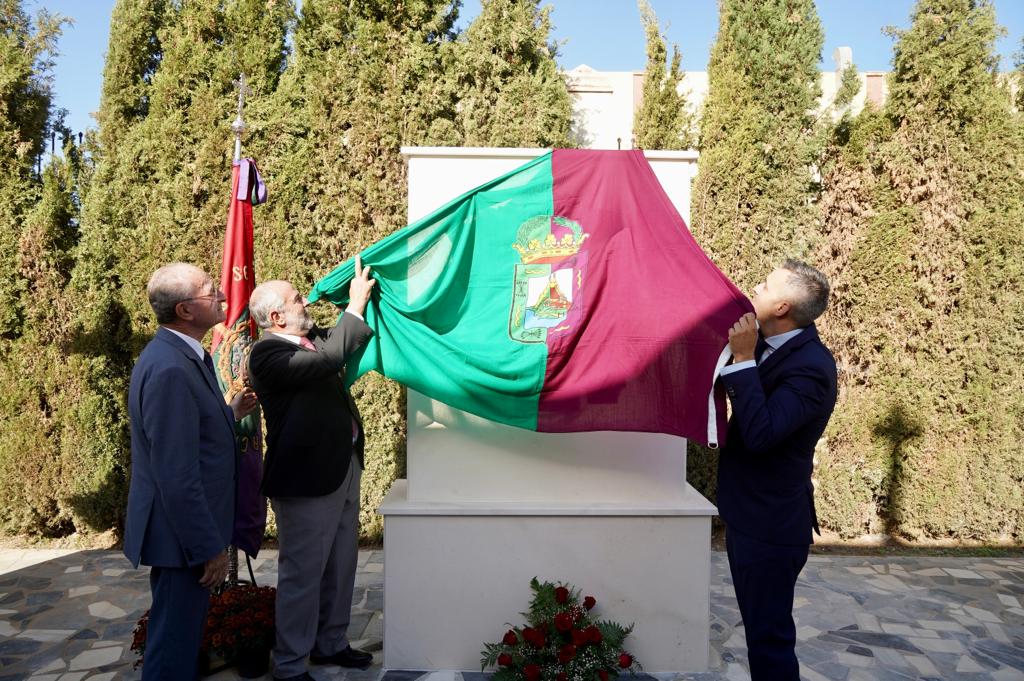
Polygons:
<instances>
[{"instance_id":1,"label":"man in dark navy suit holding the flag's right end","mask_svg":"<svg viewBox=\"0 0 1024 681\"><path fill-rule=\"evenodd\" d=\"M818 529L814 448L836 407L836 360L814 327L828 291L820 271L786 260L755 289L756 316L729 331L718 508L753 681L800 679L793 595Z\"/></svg>"}]
</instances>

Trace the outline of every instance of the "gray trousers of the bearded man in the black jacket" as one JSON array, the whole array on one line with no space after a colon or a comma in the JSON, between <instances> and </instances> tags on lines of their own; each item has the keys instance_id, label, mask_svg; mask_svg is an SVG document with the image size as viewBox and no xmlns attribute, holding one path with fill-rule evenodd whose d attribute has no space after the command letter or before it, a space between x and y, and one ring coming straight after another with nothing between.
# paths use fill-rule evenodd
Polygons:
<instances>
[{"instance_id":1,"label":"gray trousers of the bearded man in the black jacket","mask_svg":"<svg viewBox=\"0 0 1024 681\"><path fill-rule=\"evenodd\" d=\"M359 481L353 456L341 486L324 497L270 500L278 519L274 676L306 671L306 655L348 645L358 555Z\"/></svg>"}]
</instances>

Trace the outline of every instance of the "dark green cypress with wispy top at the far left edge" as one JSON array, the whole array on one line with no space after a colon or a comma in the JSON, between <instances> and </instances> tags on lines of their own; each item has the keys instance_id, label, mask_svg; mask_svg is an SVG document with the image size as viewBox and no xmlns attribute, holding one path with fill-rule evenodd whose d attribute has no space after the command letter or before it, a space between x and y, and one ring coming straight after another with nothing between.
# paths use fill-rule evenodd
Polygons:
<instances>
[{"instance_id":1,"label":"dark green cypress with wispy top at the far left edge","mask_svg":"<svg viewBox=\"0 0 1024 681\"><path fill-rule=\"evenodd\" d=\"M37 173L51 124L50 81L65 19L33 18L0 0L0 526L52 534L59 482L50 438L56 348L67 314L60 296L76 224L67 190L70 162Z\"/></svg>"}]
</instances>

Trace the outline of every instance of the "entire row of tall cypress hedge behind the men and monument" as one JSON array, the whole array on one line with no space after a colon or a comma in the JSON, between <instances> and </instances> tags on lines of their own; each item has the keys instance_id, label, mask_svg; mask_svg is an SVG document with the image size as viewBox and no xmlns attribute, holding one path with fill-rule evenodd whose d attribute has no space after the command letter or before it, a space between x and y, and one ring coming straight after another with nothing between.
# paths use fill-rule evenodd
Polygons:
<instances>
[{"instance_id":1,"label":"entire row of tall cypress hedge behind the men and monument","mask_svg":"<svg viewBox=\"0 0 1024 681\"><path fill-rule=\"evenodd\" d=\"M271 196L257 275L304 288L403 224L400 145L573 143L538 4L484 0L459 32L450 0L304 0L301 15L288 0L119 0L98 129L79 148L46 80L60 17L0 0L0 527L119 530L127 377L155 328L144 283L170 260L219 271L239 72L246 153ZM679 61L643 16L654 78L638 142L683 145ZM838 120L854 72L818 113L811 0L723 0L720 18L692 227L744 288L785 256L834 282L823 524L1021 541L1024 124L995 77L991 3L919 3L885 109ZM51 131L62 157L42 155ZM404 394L379 376L354 392L374 540L374 509L404 473ZM716 463L688 459L712 498Z\"/></svg>"}]
</instances>

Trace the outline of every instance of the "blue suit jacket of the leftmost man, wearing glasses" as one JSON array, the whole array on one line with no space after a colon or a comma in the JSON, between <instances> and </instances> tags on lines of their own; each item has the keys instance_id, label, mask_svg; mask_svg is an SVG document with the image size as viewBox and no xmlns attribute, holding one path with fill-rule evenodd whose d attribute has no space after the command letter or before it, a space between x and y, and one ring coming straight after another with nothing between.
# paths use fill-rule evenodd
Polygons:
<instances>
[{"instance_id":1,"label":"blue suit jacket of the leftmost man, wearing glasses","mask_svg":"<svg viewBox=\"0 0 1024 681\"><path fill-rule=\"evenodd\" d=\"M223 552L234 517L234 417L203 360L167 329L135 363L128 418L125 555L136 567L185 567Z\"/></svg>"}]
</instances>

